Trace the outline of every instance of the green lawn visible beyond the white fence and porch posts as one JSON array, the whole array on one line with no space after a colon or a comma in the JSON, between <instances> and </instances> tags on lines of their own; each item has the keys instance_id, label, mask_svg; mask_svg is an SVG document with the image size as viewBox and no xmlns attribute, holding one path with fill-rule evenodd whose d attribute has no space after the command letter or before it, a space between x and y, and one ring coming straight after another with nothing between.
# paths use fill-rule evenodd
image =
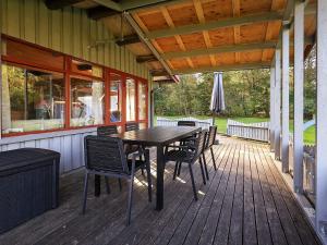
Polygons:
<instances>
[{"instance_id":1,"label":"green lawn visible beyond the white fence and porch posts","mask_svg":"<svg viewBox=\"0 0 327 245\"><path fill-rule=\"evenodd\" d=\"M164 118L168 118L168 119L178 119L181 118L183 115L175 115L175 117L164 117ZM192 115L193 117L193 115ZM205 115L196 115L193 117L196 119L210 119L210 117L205 117ZM243 122L243 123L257 123L257 122L267 122L269 121L269 119L267 118L230 118L232 120L239 121L239 122ZM155 124L157 123L157 117L155 117ZM216 117L215 119L215 124L217 125L218 128L218 133L222 133L226 134L227 132L227 118L222 118L222 117ZM293 132L293 121L290 121L290 132ZM304 132L304 144L307 145L314 145L315 144L315 126L311 126L308 127L305 132Z\"/></svg>"}]
</instances>

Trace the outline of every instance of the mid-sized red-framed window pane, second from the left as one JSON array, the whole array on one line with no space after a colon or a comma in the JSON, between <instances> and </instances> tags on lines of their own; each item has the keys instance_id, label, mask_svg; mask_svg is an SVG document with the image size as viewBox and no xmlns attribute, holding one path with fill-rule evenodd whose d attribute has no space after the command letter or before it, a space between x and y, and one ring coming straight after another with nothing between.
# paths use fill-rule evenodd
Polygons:
<instances>
[{"instance_id":1,"label":"mid-sized red-framed window pane, second from the left","mask_svg":"<svg viewBox=\"0 0 327 245\"><path fill-rule=\"evenodd\" d=\"M104 82L71 78L71 126L105 122Z\"/></svg>"}]
</instances>

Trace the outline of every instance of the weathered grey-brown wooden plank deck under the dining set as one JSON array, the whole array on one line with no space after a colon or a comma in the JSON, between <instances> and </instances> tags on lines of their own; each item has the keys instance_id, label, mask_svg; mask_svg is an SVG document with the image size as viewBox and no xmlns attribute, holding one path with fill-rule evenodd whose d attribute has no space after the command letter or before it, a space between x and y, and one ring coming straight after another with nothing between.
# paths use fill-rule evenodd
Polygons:
<instances>
[{"instance_id":1,"label":"weathered grey-brown wooden plank deck under the dining set","mask_svg":"<svg viewBox=\"0 0 327 245\"><path fill-rule=\"evenodd\" d=\"M218 167L209 161L210 181L195 176L199 200L193 200L187 169L172 181L165 174L165 208L148 204L145 179L135 182L132 224L125 226L126 186L96 198L89 187L81 215L83 171L61 179L60 207L0 236L0 244L319 244L268 152L268 146L220 138ZM210 159L209 156L207 159ZM155 177L155 166L153 168ZM93 186L93 185L90 185ZM102 188L105 189L105 188Z\"/></svg>"}]
</instances>

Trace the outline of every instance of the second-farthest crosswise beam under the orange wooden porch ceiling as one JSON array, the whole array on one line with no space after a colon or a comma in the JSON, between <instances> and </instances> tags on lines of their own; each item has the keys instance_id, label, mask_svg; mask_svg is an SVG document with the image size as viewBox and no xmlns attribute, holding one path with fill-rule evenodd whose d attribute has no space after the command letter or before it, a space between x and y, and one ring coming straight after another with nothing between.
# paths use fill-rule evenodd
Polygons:
<instances>
[{"instance_id":1,"label":"second-farthest crosswise beam under the orange wooden porch ceiling","mask_svg":"<svg viewBox=\"0 0 327 245\"><path fill-rule=\"evenodd\" d=\"M276 47L276 41L255 42L255 44L240 44L240 45L228 45L208 49L194 49L181 52L166 52L162 53L164 59L185 58L185 57L198 57L198 56L210 56L226 52L242 52L257 49L272 49Z\"/></svg>"}]
</instances>

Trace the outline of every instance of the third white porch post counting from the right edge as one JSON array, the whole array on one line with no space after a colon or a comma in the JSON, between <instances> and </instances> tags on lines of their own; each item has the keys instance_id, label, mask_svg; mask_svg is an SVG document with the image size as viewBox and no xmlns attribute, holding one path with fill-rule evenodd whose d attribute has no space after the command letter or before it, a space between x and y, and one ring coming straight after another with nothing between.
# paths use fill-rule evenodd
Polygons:
<instances>
[{"instance_id":1,"label":"third white porch post counting from the right edge","mask_svg":"<svg viewBox=\"0 0 327 245\"><path fill-rule=\"evenodd\" d=\"M282 171L289 171L289 59L290 59L290 27L284 25L282 27L282 58L281 58L281 76L282 76L282 106L281 106L281 162Z\"/></svg>"}]
</instances>

